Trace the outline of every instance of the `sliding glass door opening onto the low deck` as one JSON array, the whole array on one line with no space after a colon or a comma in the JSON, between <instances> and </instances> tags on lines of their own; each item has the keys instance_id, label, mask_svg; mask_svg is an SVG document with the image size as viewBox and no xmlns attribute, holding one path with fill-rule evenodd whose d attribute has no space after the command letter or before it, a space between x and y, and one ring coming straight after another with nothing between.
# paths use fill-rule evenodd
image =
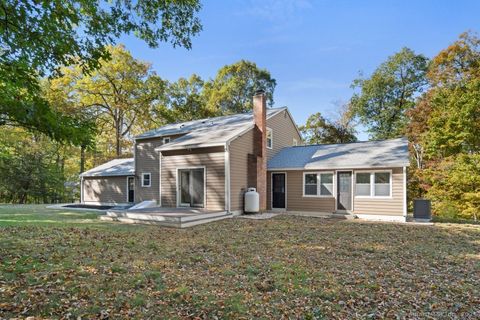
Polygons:
<instances>
[{"instance_id":1,"label":"sliding glass door opening onto the low deck","mask_svg":"<svg viewBox=\"0 0 480 320\"><path fill-rule=\"evenodd\" d=\"M204 207L205 179L204 169L178 170L180 206Z\"/></svg>"}]
</instances>

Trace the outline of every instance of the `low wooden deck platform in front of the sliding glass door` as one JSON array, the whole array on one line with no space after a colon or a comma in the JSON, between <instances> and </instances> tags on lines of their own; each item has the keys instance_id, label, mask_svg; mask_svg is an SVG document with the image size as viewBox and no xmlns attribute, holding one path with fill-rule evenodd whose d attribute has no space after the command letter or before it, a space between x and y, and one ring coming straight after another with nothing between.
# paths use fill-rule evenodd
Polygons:
<instances>
[{"instance_id":1,"label":"low wooden deck platform in front of the sliding glass door","mask_svg":"<svg viewBox=\"0 0 480 320\"><path fill-rule=\"evenodd\" d=\"M231 218L232 214L225 212L198 213L181 215L178 213L141 213L128 211L107 211L100 217L104 221L123 223L155 224L165 227L187 228L199 224Z\"/></svg>"}]
</instances>

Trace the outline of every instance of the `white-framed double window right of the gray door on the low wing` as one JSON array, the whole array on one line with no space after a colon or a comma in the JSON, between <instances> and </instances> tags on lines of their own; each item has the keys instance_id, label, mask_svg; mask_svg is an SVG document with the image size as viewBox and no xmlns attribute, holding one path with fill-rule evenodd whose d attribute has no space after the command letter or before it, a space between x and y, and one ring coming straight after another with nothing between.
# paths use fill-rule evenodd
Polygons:
<instances>
[{"instance_id":1,"label":"white-framed double window right of the gray door on the low wing","mask_svg":"<svg viewBox=\"0 0 480 320\"><path fill-rule=\"evenodd\" d=\"M357 172L355 195L357 197L391 197L392 174L389 171Z\"/></svg>"}]
</instances>

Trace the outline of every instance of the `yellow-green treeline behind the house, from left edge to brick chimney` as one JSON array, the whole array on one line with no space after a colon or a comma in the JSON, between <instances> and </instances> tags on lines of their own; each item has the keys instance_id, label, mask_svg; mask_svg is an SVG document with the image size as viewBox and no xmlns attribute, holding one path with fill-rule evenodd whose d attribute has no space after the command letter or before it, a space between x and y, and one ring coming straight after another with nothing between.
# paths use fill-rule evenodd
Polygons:
<instances>
[{"instance_id":1,"label":"yellow-green treeline behind the house, from left edge to brick chimney","mask_svg":"<svg viewBox=\"0 0 480 320\"><path fill-rule=\"evenodd\" d=\"M268 105L274 103L275 79L253 62L224 66L212 79L193 74L170 82L121 45L108 47L108 53L93 71L79 61L41 81L53 110L93 124L88 144L72 146L37 131L1 127L0 202L78 199L78 174L131 157L137 134L167 123L247 112L259 88Z\"/></svg>"}]
</instances>

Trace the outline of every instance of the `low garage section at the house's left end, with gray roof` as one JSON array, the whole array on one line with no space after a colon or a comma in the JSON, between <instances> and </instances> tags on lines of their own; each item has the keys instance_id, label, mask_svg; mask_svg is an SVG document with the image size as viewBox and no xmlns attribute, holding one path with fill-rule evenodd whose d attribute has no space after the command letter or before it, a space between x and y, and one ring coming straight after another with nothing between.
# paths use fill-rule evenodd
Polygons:
<instances>
[{"instance_id":1,"label":"low garage section at the house's left end, with gray roof","mask_svg":"<svg viewBox=\"0 0 480 320\"><path fill-rule=\"evenodd\" d=\"M134 202L133 158L109 161L85 171L80 178L82 203L124 205Z\"/></svg>"}]
</instances>

